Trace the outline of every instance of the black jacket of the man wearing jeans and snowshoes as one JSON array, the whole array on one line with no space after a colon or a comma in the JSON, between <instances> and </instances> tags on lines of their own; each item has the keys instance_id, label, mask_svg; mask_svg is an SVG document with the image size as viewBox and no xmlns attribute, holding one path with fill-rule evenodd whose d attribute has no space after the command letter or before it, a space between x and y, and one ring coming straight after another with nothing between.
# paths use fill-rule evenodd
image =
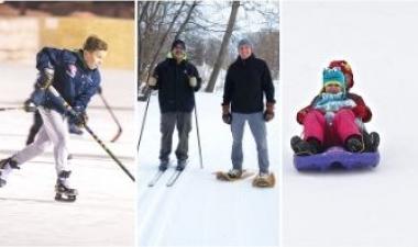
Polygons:
<instances>
[{"instance_id":1,"label":"black jacket of the man wearing jeans and snowshoes","mask_svg":"<svg viewBox=\"0 0 418 247\"><path fill-rule=\"evenodd\" d=\"M223 105L231 103L231 111L255 113L264 110L263 93L268 103L275 103L274 85L267 64L254 55L230 65L223 88Z\"/></svg>"}]
</instances>

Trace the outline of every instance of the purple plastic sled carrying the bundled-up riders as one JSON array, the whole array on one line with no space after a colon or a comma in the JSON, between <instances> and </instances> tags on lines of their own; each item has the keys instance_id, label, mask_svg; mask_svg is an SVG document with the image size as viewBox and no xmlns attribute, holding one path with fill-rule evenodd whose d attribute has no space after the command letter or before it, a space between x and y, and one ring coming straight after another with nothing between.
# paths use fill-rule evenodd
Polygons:
<instances>
[{"instance_id":1,"label":"purple plastic sled carrying the bundled-up riders","mask_svg":"<svg viewBox=\"0 0 418 247\"><path fill-rule=\"evenodd\" d=\"M329 170L332 168L356 169L374 168L381 159L380 153L350 153L342 147L331 147L324 153L298 156L294 155L297 170Z\"/></svg>"}]
</instances>

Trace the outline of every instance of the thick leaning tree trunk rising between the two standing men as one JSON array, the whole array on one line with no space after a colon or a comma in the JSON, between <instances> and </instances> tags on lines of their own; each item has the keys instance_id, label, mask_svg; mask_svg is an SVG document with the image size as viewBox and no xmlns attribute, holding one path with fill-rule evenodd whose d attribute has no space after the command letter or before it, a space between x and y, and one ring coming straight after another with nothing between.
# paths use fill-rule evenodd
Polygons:
<instances>
[{"instance_id":1,"label":"thick leaning tree trunk rising between the two standing men","mask_svg":"<svg viewBox=\"0 0 418 247\"><path fill-rule=\"evenodd\" d=\"M233 1L232 8L231 8L231 14L230 14L229 21L228 21L227 31L223 34L222 44L221 44L221 47L219 49L218 58L213 65L213 70L212 70L212 74L210 75L208 86L205 89L206 92L213 92L213 89L215 89L215 86L216 86L216 82L217 82L217 79L219 76L219 71L222 67L222 64L223 64L223 60L224 60L224 57L227 54L227 48L228 48L229 41L230 41L231 35L232 35L233 26L235 24L239 8L240 8L240 1Z\"/></svg>"}]
</instances>

